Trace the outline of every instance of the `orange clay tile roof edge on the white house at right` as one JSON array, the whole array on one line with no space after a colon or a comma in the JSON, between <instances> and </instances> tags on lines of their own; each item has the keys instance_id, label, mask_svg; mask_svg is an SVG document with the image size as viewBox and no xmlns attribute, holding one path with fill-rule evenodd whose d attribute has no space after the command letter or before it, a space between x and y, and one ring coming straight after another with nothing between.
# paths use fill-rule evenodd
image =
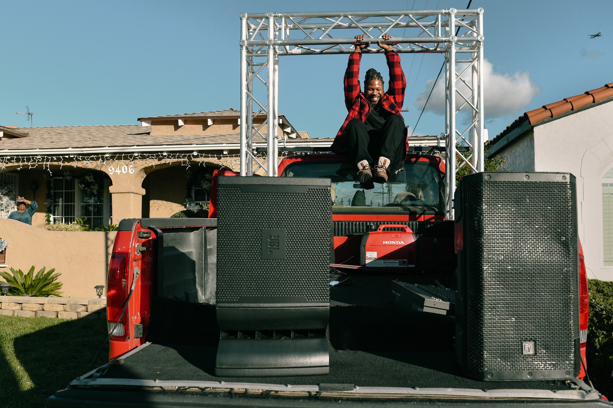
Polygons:
<instances>
[{"instance_id":1,"label":"orange clay tile roof edge on the white house at right","mask_svg":"<svg viewBox=\"0 0 613 408\"><path fill-rule=\"evenodd\" d=\"M547 118L555 118L566 111L577 110L590 104L595 104L601 100L607 99L613 96L613 82L607 83L601 88L592 89L586 91L581 95L570 96L563 100L558 100L553 104L543 105L535 110L525 112L524 115L519 116L513 123L506 127L500 134L498 134L492 140L488 140L485 145L492 146L500 142L502 138L512 132L519 126L525 125L528 129L531 129L536 123L544 121Z\"/></svg>"}]
</instances>

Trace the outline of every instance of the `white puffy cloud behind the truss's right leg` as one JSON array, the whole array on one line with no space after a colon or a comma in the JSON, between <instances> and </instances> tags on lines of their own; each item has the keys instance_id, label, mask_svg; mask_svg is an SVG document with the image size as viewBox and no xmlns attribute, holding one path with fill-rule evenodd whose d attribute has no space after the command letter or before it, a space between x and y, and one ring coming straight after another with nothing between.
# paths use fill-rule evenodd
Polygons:
<instances>
[{"instance_id":1,"label":"white puffy cloud behind the truss's right leg","mask_svg":"<svg viewBox=\"0 0 613 408\"><path fill-rule=\"evenodd\" d=\"M462 72L468 64L457 64L457 72ZM470 70L463 75L463 77L469 84L472 83L472 76ZM430 89L434 79L427 81L425 85L425 91L417 95L417 99L413 102L413 105L419 110L424 107L425 101L428 99ZM470 90L461 83L457 82L457 88L459 91L471 99ZM530 72L516 72L514 74L499 74L494 72L491 62L484 60L484 88L485 88L485 120L495 118L506 118L516 116L518 111L524 110L532 99L541 92L541 87L538 86L530 79ZM464 100L456 94L455 104L460 107ZM444 77L441 74L441 78L436 81L436 87L430 96L428 105L425 108L426 111L436 113L438 115L445 115L445 96L444 96ZM460 111L468 112L470 107L466 106Z\"/></svg>"}]
</instances>

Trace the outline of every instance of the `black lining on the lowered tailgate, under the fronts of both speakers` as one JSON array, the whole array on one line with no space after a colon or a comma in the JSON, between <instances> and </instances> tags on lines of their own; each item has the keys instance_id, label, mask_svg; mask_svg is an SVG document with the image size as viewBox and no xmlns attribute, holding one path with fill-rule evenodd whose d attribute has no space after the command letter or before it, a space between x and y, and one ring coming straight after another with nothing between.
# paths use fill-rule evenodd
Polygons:
<instances>
[{"instance_id":1,"label":"black lining on the lowered tailgate, under the fronts of both speakers","mask_svg":"<svg viewBox=\"0 0 613 408\"><path fill-rule=\"evenodd\" d=\"M482 382L460 374L450 352L330 351L330 374L297 377L215 377L216 347L151 344L100 378L209 381L291 385L346 384L358 387L570 390L560 381Z\"/></svg>"}]
</instances>

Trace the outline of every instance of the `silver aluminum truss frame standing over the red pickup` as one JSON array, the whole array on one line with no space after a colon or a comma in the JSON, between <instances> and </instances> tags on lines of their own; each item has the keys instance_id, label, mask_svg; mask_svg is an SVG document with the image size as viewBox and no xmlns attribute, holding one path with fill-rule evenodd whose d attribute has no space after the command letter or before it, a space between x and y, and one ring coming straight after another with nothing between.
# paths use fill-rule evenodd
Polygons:
<instances>
[{"instance_id":1,"label":"silver aluminum truss frame standing over the red pickup","mask_svg":"<svg viewBox=\"0 0 613 408\"><path fill-rule=\"evenodd\" d=\"M465 165L472 172L484 169L483 12L479 8L242 13L240 174L277 176L279 127L283 126L278 113L280 56L349 54L357 34L364 34L364 42L371 43L383 34L395 34L397 53L444 54L446 216L453 219L455 172ZM375 46L364 52L383 50ZM457 58L458 53L462 58ZM462 121L457 120L460 112L468 114ZM470 124L462 126L467 121ZM259 138L267 143L265 158L253 148ZM468 146L466 156L457 153L457 145Z\"/></svg>"}]
</instances>

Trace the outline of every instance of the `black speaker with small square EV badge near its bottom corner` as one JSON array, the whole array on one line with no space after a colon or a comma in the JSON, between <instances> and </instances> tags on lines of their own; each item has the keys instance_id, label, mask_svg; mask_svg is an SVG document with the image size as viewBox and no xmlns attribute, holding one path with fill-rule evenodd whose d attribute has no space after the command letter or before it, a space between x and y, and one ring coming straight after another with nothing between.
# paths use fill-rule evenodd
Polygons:
<instances>
[{"instance_id":1,"label":"black speaker with small square EV badge near its bottom corner","mask_svg":"<svg viewBox=\"0 0 613 408\"><path fill-rule=\"evenodd\" d=\"M579 374L576 181L569 173L476 173L454 199L456 354L481 380Z\"/></svg>"}]
</instances>

